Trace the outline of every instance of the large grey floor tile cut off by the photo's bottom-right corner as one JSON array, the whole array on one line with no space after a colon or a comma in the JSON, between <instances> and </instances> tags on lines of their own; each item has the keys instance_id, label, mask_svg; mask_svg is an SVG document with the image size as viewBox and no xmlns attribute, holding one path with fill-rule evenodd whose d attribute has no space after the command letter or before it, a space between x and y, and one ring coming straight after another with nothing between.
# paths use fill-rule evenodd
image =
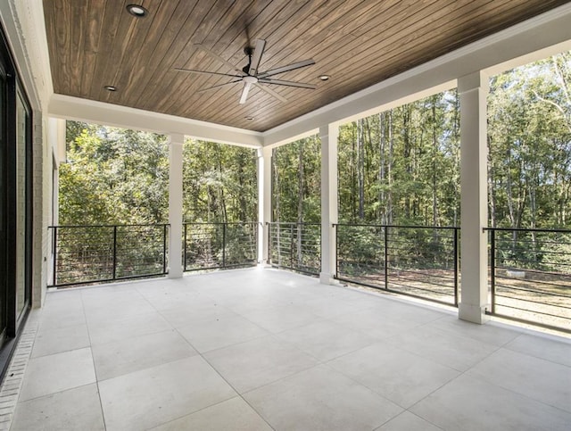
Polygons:
<instances>
[{"instance_id":1,"label":"large grey floor tile cut off by the photo's bottom-right corner","mask_svg":"<svg viewBox=\"0 0 571 431\"><path fill-rule=\"evenodd\" d=\"M410 411L445 430L571 429L570 413L467 375L452 380Z\"/></svg>"}]
</instances>

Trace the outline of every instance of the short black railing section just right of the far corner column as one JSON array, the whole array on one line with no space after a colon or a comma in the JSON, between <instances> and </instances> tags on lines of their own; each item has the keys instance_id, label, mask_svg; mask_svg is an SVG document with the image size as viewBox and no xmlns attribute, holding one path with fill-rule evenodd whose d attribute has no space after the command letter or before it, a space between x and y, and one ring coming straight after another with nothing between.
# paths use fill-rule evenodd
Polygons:
<instances>
[{"instance_id":1,"label":"short black railing section just right of the far corner column","mask_svg":"<svg viewBox=\"0 0 571 431\"><path fill-rule=\"evenodd\" d=\"M319 275L321 269L321 225L319 223L271 222L269 264Z\"/></svg>"}]
</instances>

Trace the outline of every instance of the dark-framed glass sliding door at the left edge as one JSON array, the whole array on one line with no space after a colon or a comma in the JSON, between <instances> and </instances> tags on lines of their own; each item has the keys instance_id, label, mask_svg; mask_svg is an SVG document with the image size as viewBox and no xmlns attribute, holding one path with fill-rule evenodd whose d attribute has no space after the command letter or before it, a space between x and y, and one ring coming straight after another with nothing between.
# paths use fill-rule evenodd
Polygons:
<instances>
[{"instance_id":1,"label":"dark-framed glass sliding door at the left edge","mask_svg":"<svg viewBox=\"0 0 571 431\"><path fill-rule=\"evenodd\" d=\"M0 27L0 379L31 303L32 113Z\"/></svg>"}]
</instances>

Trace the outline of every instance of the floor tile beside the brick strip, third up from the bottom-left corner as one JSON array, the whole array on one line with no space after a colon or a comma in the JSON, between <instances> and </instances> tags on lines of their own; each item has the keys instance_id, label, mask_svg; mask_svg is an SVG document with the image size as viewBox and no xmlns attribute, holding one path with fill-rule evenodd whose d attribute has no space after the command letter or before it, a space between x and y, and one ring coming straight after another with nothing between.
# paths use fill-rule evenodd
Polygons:
<instances>
[{"instance_id":1,"label":"floor tile beside the brick strip, third up from the bottom-left corner","mask_svg":"<svg viewBox=\"0 0 571 431\"><path fill-rule=\"evenodd\" d=\"M81 349L82 347L89 347L89 333L86 324L51 329L42 327L38 330L36 340L34 340L32 358Z\"/></svg>"}]
</instances>

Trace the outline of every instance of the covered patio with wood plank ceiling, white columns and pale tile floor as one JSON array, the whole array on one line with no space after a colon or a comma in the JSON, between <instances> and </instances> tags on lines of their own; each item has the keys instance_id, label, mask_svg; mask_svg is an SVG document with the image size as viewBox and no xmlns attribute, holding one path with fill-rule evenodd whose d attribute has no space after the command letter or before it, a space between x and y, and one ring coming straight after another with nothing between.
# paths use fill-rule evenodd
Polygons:
<instances>
[{"instance_id":1,"label":"covered patio with wood plank ceiling, white columns and pale tile floor","mask_svg":"<svg viewBox=\"0 0 571 431\"><path fill-rule=\"evenodd\" d=\"M0 158L0 428L571 428L568 337L491 316L486 182L490 77L571 49L568 2L128 3L0 4L10 145ZM290 84L312 83L269 90L252 58L243 68L266 39L267 62L257 62L270 71L310 66L310 56L329 69L292 67ZM451 306L342 286L340 125L451 89L461 119ZM65 120L169 137L167 277L48 288ZM321 145L318 278L269 268L272 223L292 222L272 220L272 149L310 136ZM242 221L258 229L257 267L184 274L186 137L256 150L257 220ZM399 227L377 228L386 250ZM387 253L384 262L390 287Z\"/></svg>"}]
</instances>

